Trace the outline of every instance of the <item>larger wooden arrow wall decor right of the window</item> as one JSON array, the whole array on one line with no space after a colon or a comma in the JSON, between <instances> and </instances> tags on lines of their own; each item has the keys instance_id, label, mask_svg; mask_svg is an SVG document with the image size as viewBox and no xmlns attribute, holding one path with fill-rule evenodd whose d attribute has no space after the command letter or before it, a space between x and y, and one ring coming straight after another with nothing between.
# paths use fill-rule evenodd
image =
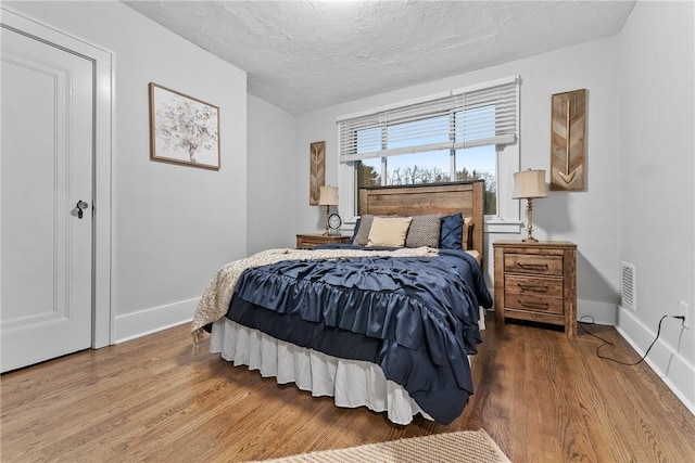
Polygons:
<instances>
[{"instance_id":1,"label":"larger wooden arrow wall decor right of the window","mask_svg":"<svg viewBox=\"0 0 695 463\"><path fill-rule=\"evenodd\" d=\"M551 120L551 190L585 189L586 89L555 93Z\"/></svg>"}]
</instances>

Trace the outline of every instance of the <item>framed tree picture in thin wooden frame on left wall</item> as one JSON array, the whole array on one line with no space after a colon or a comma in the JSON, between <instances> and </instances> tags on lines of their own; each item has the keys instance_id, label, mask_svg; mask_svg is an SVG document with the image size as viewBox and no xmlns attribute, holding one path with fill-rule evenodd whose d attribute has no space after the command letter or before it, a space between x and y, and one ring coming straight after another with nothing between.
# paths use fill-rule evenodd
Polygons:
<instances>
[{"instance_id":1,"label":"framed tree picture in thin wooden frame on left wall","mask_svg":"<svg viewBox=\"0 0 695 463\"><path fill-rule=\"evenodd\" d=\"M150 93L150 159L219 170L219 107L154 82Z\"/></svg>"}]
</instances>

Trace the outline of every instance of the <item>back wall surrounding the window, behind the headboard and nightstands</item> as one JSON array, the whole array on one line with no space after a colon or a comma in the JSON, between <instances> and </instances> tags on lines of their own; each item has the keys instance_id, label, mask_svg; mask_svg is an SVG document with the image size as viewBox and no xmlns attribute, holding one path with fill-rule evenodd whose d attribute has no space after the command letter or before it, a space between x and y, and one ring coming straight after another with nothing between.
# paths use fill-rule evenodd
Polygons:
<instances>
[{"instance_id":1,"label":"back wall surrounding the window, behind the headboard and nightstands","mask_svg":"<svg viewBox=\"0 0 695 463\"><path fill-rule=\"evenodd\" d=\"M337 116L518 74L521 77L521 168L549 171L552 94L585 88L589 93L586 191L549 192L547 198L534 202L533 234L540 240L568 240L579 246L579 313L590 313L601 322L612 323L618 303L619 269L615 201L618 194L615 59L614 37L299 116L294 172L300 201L296 203L295 229L319 230L323 223L323 210L302 201L308 184L311 142L326 140L326 180L338 184ZM521 217L526 220L526 213ZM492 243L521 237L519 234L486 235L484 267L490 287Z\"/></svg>"}]
</instances>

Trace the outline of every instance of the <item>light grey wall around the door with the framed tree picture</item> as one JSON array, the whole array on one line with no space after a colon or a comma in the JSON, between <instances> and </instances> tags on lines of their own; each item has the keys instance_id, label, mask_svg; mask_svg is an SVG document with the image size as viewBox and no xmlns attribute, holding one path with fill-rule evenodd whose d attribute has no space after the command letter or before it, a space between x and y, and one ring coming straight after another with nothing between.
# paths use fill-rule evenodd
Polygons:
<instances>
[{"instance_id":1,"label":"light grey wall around the door with the framed tree picture","mask_svg":"<svg viewBox=\"0 0 695 463\"><path fill-rule=\"evenodd\" d=\"M119 2L7 4L115 52L113 338L190 320L217 268L245 255L245 73ZM219 171L150 160L150 81L219 106Z\"/></svg>"}]
</instances>

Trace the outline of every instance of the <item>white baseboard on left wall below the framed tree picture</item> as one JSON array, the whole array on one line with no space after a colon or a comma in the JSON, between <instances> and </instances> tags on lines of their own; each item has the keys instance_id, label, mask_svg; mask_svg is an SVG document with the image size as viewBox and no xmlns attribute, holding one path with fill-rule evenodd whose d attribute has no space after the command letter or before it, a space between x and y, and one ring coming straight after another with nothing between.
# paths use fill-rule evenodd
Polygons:
<instances>
[{"instance_id":1,"label":"white baseboard on left wall below the framed tree picture","mask_svg":"<svg viewBox=\"0 0 695 463\"><path fill-rule=\"evenodd\" d=\"M115 344L125 343L193 320L200 297L153 307L114 319Z\"/></svg>"}]
</instances>

